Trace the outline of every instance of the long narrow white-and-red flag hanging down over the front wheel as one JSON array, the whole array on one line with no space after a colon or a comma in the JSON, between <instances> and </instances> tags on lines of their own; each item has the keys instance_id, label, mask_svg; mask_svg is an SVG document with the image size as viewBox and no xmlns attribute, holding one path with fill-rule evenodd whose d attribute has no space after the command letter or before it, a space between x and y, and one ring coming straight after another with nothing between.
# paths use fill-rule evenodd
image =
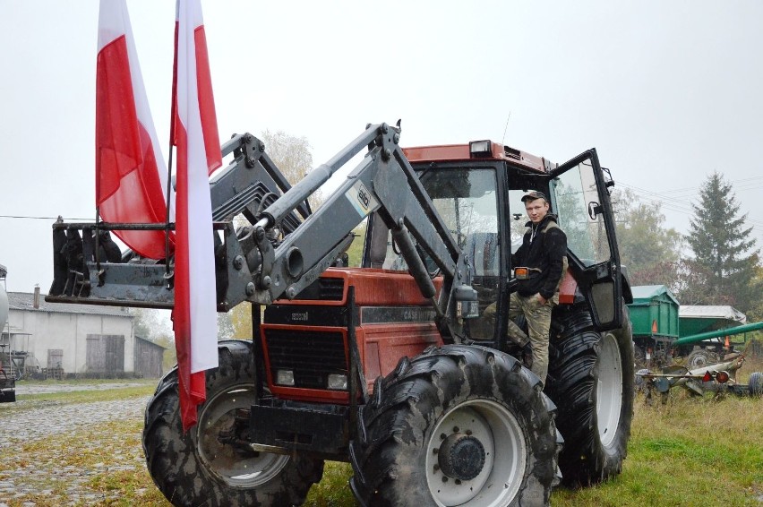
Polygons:
<instances>
[{"instance_id":1,"label":"long narrow white-and-red flag hanging down over the front wheel","mask_svg":"<svg viewBox=\"0 0 763 507\"><path fill-rule=\"evenodd\" d=\"M209 175L222 165L201 0L178 0L172 141L177 153L175 347L184 431L218 366Z\"/></svg>"}]
</instances>

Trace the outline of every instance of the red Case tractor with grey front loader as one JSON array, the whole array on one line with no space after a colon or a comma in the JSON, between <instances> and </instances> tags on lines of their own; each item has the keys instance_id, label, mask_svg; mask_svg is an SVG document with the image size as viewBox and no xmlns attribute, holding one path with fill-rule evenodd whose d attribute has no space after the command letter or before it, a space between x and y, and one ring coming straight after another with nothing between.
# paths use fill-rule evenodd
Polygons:
<instances>
[{"instance_id":1,"label":"red Case tractor with grey front loader","mask_svg":"<svg viewBox=\"0 0 763 507\"><path fill-rule=\"evenodd\" d=\"M325 460L351 463L362 505L544 505L560 471L570 485L620 472L630 288L596 150L557 165L490 141L403 149L400 134L368 125L294 186L253 135L222 146L210 289L220 312L252 305L253 337L219 342L187 433L176 369L150 400L143 449L170 502L300 504ZM312 211L308 198L363 151ZM528 190L549 196L569 247L545 387L507 339L509 220ZM93 242L173 224L53 227L64 269L47 301L173 307L171 257L108 262ZM355 240L360 267L338 267Z\"/></svg>"}]
</instances>

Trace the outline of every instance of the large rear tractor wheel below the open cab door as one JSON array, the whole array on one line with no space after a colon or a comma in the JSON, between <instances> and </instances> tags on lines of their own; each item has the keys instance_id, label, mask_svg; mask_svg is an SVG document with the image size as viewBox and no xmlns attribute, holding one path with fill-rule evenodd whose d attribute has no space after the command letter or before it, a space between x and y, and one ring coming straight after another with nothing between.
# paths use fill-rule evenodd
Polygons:
<instances>
[{"instance_id":1,"label":"large rear tractor wheel below the open cab door","mask_svg":"<svg viewBox=\"0 0 763 507\"><path fill-rule=\"evenodd\" d=\"M628 309L622 329L600 333L584 305L563 311L546 393L558 407L565 445L562 482L590 486L616 476L627 454L635 372Z\"/></svg>"}]
</instances>

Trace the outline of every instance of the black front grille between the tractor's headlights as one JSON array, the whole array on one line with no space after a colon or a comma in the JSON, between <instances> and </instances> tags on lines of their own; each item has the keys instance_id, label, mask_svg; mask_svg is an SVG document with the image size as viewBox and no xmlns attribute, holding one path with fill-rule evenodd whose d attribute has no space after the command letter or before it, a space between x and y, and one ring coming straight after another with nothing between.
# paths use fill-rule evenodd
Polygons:
<instances>
[{"instance_id":1,"label":"black front grille between the tractor's headlights","mask_svg":"<svg viewBox=\"0 0 763 507\"><path fill-rule=\"evenodd\" d=\"M294 387L326 389L329 374L347 374L342 334L320 331L265 330L270 374L294 372Z\"/></svg>"}]
</instances>

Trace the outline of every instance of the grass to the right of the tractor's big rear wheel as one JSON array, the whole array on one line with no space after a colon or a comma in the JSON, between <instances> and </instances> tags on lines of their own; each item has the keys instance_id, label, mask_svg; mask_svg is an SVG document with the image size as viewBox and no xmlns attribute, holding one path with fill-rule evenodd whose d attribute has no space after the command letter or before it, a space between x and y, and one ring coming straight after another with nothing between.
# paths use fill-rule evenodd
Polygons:
<instances>
[{"instance_id":1,"label":"grass to the right of the tractor's big rear wheel","mask_svg":"<svg viewBox=\"0 0 763 507\"><path fill-rule=\"evenodd\" d=\"M559 489L554 505L761 505L763 401L690 398L666 405L637 399L622 474L593 488Z\"/></svg>"}]
</instances>

